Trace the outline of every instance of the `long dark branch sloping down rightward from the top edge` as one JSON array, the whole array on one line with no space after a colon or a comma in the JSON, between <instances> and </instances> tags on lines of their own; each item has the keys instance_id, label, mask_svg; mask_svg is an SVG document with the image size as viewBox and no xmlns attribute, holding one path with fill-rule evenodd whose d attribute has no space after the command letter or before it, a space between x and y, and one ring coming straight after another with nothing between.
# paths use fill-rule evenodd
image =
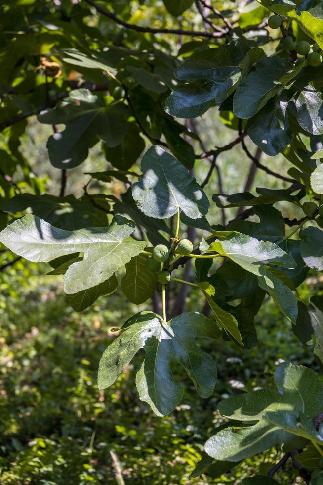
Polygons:
<instances>
[{"instance_id":1,"label":"long dark branch sloping down rightward from the top edge","mask_svg":"<svg viewBox=\"0 0 323 485\"><path fill-rule=\"evenodd\" d=\"M145 34L177 34L177 35L188 35L191 37L209 37L209 38L214 38L214 37L223 37L228 33L228 30L224 30L223 32L202 32L202 31L194 31L194 30L182 30L182 29L154 29L152 27L142 27L140 25L134 25L134 24L129 24L128 22L125 22L124 20L121 20L117 15L114 13L110 12L106 8L101 7L100 5L97 5L95 1L93 0L83 0L86 2L88 5L91 5L92 7L95 8L95 10L98 13L101 13L101 15L104 15L105 17L110 18L110 20L113 20L116 22L118 25L122 25L122 27L125 27L126 29L131 29L135 30L136 32L143 32Z\"/></svg>"}]
</instances>

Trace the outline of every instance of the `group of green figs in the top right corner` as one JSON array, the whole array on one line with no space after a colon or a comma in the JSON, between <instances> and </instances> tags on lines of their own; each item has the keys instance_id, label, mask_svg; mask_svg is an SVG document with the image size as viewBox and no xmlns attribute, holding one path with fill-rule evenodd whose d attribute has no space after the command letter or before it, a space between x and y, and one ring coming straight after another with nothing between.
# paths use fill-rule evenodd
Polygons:
<instances>
[{"instance_id":1,"label":"group of green figs in the top right corner","mask_svg":"<svg viewBox=\"0 0 323 485\"><path fill-rule=\"evenodd\" d=\"M282 26L282 18L279 15L272 15L268 19L268 25L271 29L279 29ZM287 35L283 37L278 50L295 50L298 54L306 57L310 66L316 67L322 63L321 48L315 42L312 46L307 41L296 43L294 37Z\"/></svg>"}]
</instances>

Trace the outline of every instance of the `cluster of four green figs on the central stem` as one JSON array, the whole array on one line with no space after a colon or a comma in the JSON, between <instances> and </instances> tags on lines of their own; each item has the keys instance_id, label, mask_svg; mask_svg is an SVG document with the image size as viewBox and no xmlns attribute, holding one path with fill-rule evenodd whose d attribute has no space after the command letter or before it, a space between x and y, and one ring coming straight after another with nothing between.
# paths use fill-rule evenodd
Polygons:
<instances>
[{"instance_id":1,"label":"cluster of four green figs on the central stem","mask_svg":"<svg viewBox=\"0 0 323 485\"><path fill-rule=\"evenodd\" d=\"M177 244L175 249L175 254L180 254L182 256L187 256L193 251L193 244L188 239L181 239ZM160 271L161 265L169 258L170 252L167 246L164 244L158 244L153 249L152 257L148 258L146 261L147 269L152 272L159 271L157 279L161 285L167 285L170 281L170 274L168 271Z\"/></svg>"}]
</instances>

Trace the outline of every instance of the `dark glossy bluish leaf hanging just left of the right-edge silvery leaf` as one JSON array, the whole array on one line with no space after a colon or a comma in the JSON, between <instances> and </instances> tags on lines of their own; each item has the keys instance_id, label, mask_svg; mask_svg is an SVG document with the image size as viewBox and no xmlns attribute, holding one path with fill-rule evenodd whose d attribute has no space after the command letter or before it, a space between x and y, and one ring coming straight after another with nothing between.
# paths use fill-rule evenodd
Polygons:
<instances>
[{"instance_id":1,"label":"dark glossy bluish leaf hanging just left of the right-edge silvery leaf","mask_svg":"<svg viewBox=\"0 0 323 485\"><path fill-rule=\"evenodd\" d=\"M248 122L249 137L266 155L277 155L293 139L287 106L288 99L274 97Z\"/></svg>"}]
</instances>

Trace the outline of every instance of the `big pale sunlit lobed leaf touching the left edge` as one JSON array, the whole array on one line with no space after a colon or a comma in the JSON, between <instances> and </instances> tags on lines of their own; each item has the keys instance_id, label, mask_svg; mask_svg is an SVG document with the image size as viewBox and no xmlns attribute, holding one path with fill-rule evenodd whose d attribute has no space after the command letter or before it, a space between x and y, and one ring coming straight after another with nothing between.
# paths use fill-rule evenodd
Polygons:
<instances>
[{"instance_id":1,"label":"big pale sunlit lobed leaf touching the left edge","mask_svg":"<svg viewBox=\"0 0 323 485\"><path fill-rule=\"evenodd\" d=\"M0 242L34 262L84 253L84 259L71 264L65 275L64 291L72 294L103 283L141 253L146 242L129 237L134 227L132 221L116 216L109 227L66 231L29 214L4 229Z\"/></svg>"}]
</instances>

